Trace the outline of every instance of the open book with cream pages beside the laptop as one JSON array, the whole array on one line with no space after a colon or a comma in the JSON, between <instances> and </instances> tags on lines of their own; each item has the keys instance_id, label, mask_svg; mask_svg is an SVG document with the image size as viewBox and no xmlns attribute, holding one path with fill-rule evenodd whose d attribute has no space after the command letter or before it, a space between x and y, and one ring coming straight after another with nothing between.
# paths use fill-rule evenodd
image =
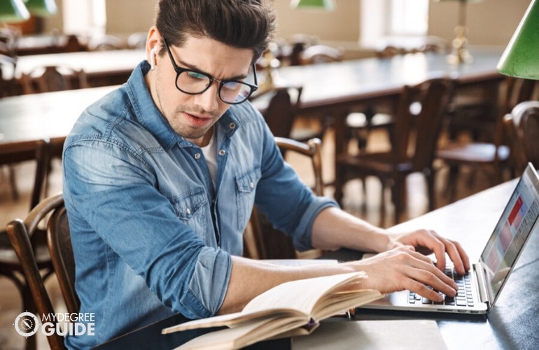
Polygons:
<instances>
[{"instance_id":1,"label":"open book with cream pages beside the laptop","mask_svg":"<svg viewBox=\"0 0 539 350\"><path fill-rule=\"evenodd\" d=\"M273 337L307 335L319 321L382 297L377 290L360 288L366 277L352 272L282 283L253 298L240 312L181 323L162 333L228 327L196 337L179 349L239 349Z\"/></svg>"}]
</instances>

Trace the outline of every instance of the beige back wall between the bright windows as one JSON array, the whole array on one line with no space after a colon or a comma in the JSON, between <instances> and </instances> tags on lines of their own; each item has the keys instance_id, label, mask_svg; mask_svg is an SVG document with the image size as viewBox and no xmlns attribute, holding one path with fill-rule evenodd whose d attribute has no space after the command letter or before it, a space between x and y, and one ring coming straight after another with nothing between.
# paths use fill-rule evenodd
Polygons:
<instances>
[{"instance_id":1,"label":"beige back wall between the bright windows","mask_svg":"<svg viewBox=\"0 0 539 350\"><path fill-rule=\"evenodd\" d=\"M59 8L62 0L56 0ZM86 1L86 0L80 0ZM158 0L106 0L107 25L110 34L147 31L153 24ZM351 43L360 38L360 0L335 0L332 12L294 10L289 0L274 0L278 18L277 35L291 38L303 33L318 36L321 41ZM469 3L468 38L474 45L506 45L530 0L483 0ZM430 1L429 33L451 40L458 20L458 1ZM364 25L364 24L363 24ZM62 28L61 11L45 20L45 31Z\"/></svg>"}]
</instances>

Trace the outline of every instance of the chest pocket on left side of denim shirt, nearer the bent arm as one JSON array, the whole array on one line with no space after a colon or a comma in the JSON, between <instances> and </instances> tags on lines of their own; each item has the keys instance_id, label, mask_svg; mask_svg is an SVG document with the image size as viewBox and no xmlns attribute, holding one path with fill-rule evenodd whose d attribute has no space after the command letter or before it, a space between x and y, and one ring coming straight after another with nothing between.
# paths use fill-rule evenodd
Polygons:
<instances>
[{"instance_id":1,"label":"chest pocket on left side of denim shirt, nearer the bent arm","mask_svg":"<svg viewBox=\"0 0 539 350\"><path fill-rule=\"evenodd\" d=\"M170 200L176 216L192 228L197 235L211 245L207 237L207 207L208 199L204 188L193 188ZM213 237L210 235L210 237Z\"/></svg>"}]
</instances>

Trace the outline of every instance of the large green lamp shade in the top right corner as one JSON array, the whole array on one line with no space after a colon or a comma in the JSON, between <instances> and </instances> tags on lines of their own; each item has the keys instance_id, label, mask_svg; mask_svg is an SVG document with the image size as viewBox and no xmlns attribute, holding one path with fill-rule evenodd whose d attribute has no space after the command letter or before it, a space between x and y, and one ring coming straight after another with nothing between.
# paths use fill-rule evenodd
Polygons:
<instances>
[{"instance_id":1,"label":"large green lamp shade in the top right corner","mask_svg":"<svg viewBox=\"0 0 539 350\"><path fill-rule=\"evenodd\" d=\"M498 71L507 76L539 79L539 3L531 1L505 48Z\"/></svg>"}]
</instances>

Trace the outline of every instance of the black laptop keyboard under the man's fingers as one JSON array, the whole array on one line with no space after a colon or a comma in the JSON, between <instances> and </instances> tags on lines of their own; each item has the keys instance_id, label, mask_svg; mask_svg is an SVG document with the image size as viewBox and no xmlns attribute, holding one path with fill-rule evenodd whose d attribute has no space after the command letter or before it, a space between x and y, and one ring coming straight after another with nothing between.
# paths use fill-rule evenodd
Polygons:
<instances>
[{"instance_id":1,"label":"black laptop keyboard under the man's fingers","mask_svg":"<svg viewBox=\"0 0 539 350\"><path fill-rule=\"evenodd\" d=\"M408 293L409 304L435 304L435 305L453 305L458 307L473 307L472 282L470 273L458 274L454 269L446 269L445 274L455 281L458 286L458 292L455 297L449 297L441 292L444 297L442 302L433 302L426 297L416 294L412 291Z\"/></svg>"}]
</instances>

